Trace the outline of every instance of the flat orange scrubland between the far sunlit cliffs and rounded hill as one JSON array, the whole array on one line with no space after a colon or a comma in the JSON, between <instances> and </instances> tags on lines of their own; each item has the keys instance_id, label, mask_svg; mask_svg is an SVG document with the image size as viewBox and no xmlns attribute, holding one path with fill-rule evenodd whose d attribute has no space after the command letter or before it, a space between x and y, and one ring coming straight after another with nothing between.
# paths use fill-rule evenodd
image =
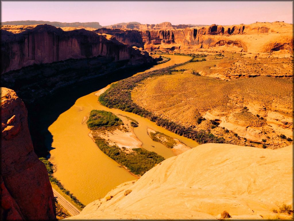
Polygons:
<instances>
[{"instance_id":1,"label":"flat orange scrubland between the far sunlit cliffs and rounded hill","mask_svg":"<svg viewBox=\"0 0 294 221\"><path fill-rule=\"evenodd\" d=\"M268 76L276 78L293 77L293 58L245 57L242 53L224 52L206 55L203 62L190 62L176 69L196 71L203 76L233 80ZM201 60L202 61L202 60Z\"/></svg>"}]
</instances>

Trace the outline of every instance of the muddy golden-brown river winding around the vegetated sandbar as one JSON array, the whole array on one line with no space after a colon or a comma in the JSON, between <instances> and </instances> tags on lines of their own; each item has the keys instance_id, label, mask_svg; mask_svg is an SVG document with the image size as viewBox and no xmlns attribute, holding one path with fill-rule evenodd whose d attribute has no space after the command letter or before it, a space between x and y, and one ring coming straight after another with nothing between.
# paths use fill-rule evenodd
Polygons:
<instances>
[{"instance_id":1,"label":"muddy golden-brown river winding around the vegetated sandbar","mask_svg":"<svg viewBox=\"0 0 294 221\"><path fill-rule=\"evenodd\" d=\"M164 56L170 57L171 60L145 72L183 63L190 59L190 57L180 55ZM137 74L141 73L143 72ZM138 121L139 124L137 128L134 128L134 133L143 143L142 147L165 158L175 156L175 154L166 146L153 141L148 136L147 128L177 138L191 148L198 145L196 141L172 133L141 116L100 105L97 91L104 91L109 86L97 88L96 91L78 98L75 104L60 114L48 128L53 136L53 149L50 151L49 160L56 166L54 176L85 205L104 197L112 188L123 182L138 179L104 154L88 136L90 130L87 128L86 121L83 123L82 121L85 116L89 116L91 110L111 111Z\"/></svg>"}]
</instances>

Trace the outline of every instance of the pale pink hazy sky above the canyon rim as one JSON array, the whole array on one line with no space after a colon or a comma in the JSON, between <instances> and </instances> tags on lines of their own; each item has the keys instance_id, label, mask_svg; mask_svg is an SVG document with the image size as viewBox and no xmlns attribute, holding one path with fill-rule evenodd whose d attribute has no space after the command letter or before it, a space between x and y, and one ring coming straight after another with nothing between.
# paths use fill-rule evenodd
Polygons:
<instances>
[{"instance_id":1,"label":"pale pink hazy sky above the canyon rim","mask_svg":"<svg viewBox=\"0 0 294 221\"><path fill-rule=\"evenodd\" d=\"M293 1L1 1L1 22L293 23Z\"/></svg>"}]
</instances>

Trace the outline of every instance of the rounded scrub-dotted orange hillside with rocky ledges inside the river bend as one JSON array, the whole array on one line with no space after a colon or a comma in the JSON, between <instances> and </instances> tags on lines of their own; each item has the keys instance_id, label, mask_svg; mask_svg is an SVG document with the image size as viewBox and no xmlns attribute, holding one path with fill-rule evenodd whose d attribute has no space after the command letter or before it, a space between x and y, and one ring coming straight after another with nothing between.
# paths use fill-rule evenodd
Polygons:
<instances>
[{"instance_id":1,"label":"rounded scrub-dotted orange hillside with rocky ledges inside the river bend","mask_svg":"<svg viewBox=\"0 0 294 221\"><path fill-rule=\"evenodd\" d=\"M273 149L291 144L290 78L259 76L224 81L195 76L193 72L202 75L203 71L189 66L193 63L172 69L187 69L184 72L142 80L132 90L131 99L158 117L222 136L234 144ZM281 131L287 136L281 137ZM234 133L238 136L233 136Z\"/></svg>"}]
</instances>

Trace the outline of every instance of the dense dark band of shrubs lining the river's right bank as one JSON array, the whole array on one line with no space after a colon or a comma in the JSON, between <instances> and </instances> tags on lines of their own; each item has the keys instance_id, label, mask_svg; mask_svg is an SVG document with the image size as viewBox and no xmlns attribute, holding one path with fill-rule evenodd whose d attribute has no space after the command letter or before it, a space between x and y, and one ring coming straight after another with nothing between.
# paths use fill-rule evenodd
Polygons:
<instances>
[{"instance_id":1,"label":"dense dark band of shrubs lining the river's right bank","mask_svg":"<svg viewBox=\"0 0 294 221\"><path fill-rule=\"evenodd\" d=\"M191 127L183 126L166 118L161 118L154 115L152 112L140 107L131 99L131 90L137 86L137 83L150 77L160 75L171 75L173 68L179 65L173 65L169 68L163 68L151 72L145 72L140 75L128 77L118 83L112 84L104 93L99 96L99 101L102 105L108 108L118 108L127 112L135 113L140 116L146 117L151 121L156 122L157 125L162 126L169 131L177 133L181 136L191 138L201 144L204 143L225 143L223 137L213 135L212 133L204 130L196 131Z\"/></svg>"}]
</instances>

